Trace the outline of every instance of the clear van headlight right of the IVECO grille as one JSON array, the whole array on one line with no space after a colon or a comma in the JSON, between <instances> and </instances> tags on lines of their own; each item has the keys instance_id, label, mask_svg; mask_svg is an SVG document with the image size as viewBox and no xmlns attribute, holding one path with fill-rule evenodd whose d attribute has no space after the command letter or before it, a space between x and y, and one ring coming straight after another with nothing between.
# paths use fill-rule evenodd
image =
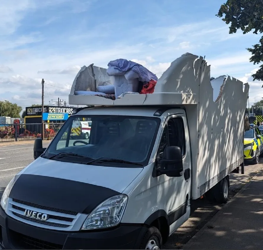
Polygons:
<instances>
[{"instance_id":1,"label":"clear van headlight right of the IVECO grille","mask_svg":"<svg viewBox=\"0 0 263 250\"><path fill-rule=\"evenodd\" d=\"M81 230L103 229L118 225L124 215L128 197L119 194L102 202L84 221Z\"/></svg>"}]
</instances>

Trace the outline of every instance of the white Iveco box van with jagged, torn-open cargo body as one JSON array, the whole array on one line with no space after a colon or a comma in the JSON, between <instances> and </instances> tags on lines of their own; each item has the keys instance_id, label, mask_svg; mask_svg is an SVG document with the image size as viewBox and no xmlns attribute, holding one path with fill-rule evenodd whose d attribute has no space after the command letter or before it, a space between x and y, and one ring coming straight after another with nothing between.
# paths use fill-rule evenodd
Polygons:
<instances>
[{"instance_id":1,"label":"white Iveco box van with jagged, torn-open cargo body","mask_svg":"<svg viewBox=\"0 0 263 250\"><path fill-rule=\"evenodd\" d=\"M1 247L162 248L189 218L190 199L227 201L228 174L243 164L248 85L227 78L220 95L214 102L209 68L191 54L153 94L72 94L70 103L101 106L74 111L46 149L36 139L36 160L1 198ZM84 120L89 139L72 138Z\"/></svg>"}]
</instances>

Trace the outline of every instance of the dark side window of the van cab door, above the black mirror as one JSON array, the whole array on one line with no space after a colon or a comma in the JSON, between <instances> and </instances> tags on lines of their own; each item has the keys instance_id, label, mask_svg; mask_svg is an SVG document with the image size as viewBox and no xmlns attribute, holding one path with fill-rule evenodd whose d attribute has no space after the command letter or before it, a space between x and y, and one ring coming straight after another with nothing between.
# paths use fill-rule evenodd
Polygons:
<instances>
[{"instance_id":1,"label":"dark side window of the van cab door, above the black mirror","mask_svg":"<svg viewBox=\"0 0 263 250\"><path fill-rule=\"evenodd\" d=\"M158 147L157 162L162 159L163 151L168 146L180 147L182 155L185 155L185 130L182 118L172 118L167 122ZM157 168L159 167L160 163L157 164Z\"/></svg>"}]
</instances>

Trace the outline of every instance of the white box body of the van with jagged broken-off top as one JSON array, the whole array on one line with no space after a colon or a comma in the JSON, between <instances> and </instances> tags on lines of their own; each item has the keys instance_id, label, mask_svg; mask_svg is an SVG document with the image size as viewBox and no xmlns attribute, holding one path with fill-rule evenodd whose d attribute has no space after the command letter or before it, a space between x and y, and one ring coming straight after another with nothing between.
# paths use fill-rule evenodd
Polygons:
<instances>
[{"instance_id":1,"label":"white box body of the van with jagged broken-off top","mask_svg":"<svg viewBox=\"0 0 263 250\"><path fill-rule=\"evenodd\" d=\"M241 81L229 76L210 81L210 66L206 61L186 53L171 63L152 94L128 92L111 100L85 92L96 92L98 86L114 85L115 81L106 69L84 66L73 82L69 103L185 109L192 153L191 198L199 198L243 163L248 84L243 86ZM76 91L83 92L76 95Z\"/></svg>"}]
</instances>

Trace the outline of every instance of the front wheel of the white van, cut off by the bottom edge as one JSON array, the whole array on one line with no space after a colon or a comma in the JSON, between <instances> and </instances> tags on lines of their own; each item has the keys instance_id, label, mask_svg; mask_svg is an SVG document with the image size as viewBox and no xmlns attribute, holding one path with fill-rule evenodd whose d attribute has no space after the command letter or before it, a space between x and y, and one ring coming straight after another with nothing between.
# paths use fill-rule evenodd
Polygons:
<instances>
[{"instance_id":1,"label":"front wheel of the white van, cut off by the bottom edge","mask_svg":"<svg viewBox=\"0 0 263 250\"><path fill-rule=\"evenodd\" d=\"M156 227L148 228L139 249L162 249L163 240L160 231Z\"/></svg>"}]
</instances>

